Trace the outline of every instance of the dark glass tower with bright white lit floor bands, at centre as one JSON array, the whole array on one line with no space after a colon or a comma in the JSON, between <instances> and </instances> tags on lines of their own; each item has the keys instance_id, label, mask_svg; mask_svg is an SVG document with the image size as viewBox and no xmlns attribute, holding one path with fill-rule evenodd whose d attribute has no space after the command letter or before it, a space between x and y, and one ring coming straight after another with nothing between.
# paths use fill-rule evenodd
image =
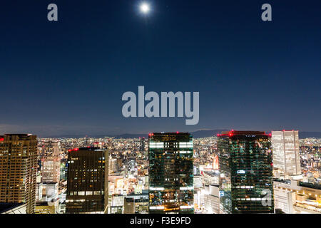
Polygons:
<instances>
[{"instance_id":1,"label":"dark glass tower with bright white lit floor bands, at centre","mask_svg":"<svg viewBox=\"0 0 321 228\"><path fill-rule=\"evenodd\" d=\"M148 143L149 213L193 213L193 138L153 133Z\"/></svg>"}]
</instances>

